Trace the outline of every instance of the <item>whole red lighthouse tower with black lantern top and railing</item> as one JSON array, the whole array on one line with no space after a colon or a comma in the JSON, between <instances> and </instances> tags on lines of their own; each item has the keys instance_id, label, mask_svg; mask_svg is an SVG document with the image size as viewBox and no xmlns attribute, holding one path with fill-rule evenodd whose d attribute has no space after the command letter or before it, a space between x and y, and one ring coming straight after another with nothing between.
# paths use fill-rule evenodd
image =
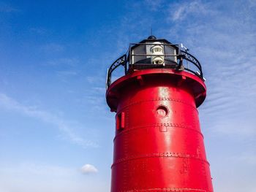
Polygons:
<instances>
[{"instance_id":1,"label":"whole red lighthouse tower with black lantern top and railing","mask_svg":"<svg viewBox=\"0 0 256 192\"><path fill-rule=\"evenodd\" d=\"M111 82L118 67L124 76ZM131 44L108 69L111 192L213 192L197 112L205 98L202 68L187 50L154 36Z\"/></svg>"}]
</instances>

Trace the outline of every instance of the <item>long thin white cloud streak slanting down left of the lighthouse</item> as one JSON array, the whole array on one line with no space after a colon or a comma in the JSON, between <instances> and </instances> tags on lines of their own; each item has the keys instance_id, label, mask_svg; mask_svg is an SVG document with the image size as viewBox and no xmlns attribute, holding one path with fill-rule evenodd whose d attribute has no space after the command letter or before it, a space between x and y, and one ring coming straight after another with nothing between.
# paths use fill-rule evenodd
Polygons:
<instances>
[{"instance_id":1,"label":"long thin white cloud streak slanting down left of the lighthouse","mask_svg":"<svg viewBox=\"0 0 256 192\"><path fill-rule=\"evenodd\" d=\"M0 93L0 107L4 107L7 110L20 112L20 114L27 115L31 118L37 118L45 123L50 123L53 126L59 128L62 134L67 137L71 142L80 145L82 147L98 147L97 143L90 139L84 139L75 134L72 127L69 126L67 120L59 118L50 112L39 110L37 107L31 107L24 104L20 104L15 99L10 98L4 93Z\"/></svg>"}]
</instances>

